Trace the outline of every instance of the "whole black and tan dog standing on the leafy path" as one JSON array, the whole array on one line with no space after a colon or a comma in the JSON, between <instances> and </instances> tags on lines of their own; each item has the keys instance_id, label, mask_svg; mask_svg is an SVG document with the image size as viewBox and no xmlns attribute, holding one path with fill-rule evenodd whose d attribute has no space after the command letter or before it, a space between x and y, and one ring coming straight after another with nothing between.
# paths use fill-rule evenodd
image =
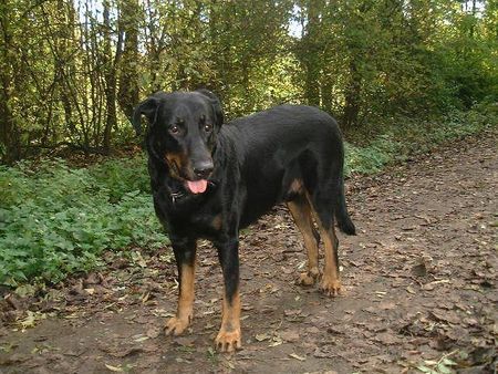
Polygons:
<instances>
[{"instance_id":1,"label":"whole black and tan dog standing on the leafy path","mask_svg":"<svg viewBox=\"0 0 498 374\"><path fill-rule=\"evenodd\" d=\"M240 347L239 230L282 201L308 251L300 282L321 278L325 294L339 293L334 220L345 233L355 229L344 199L342 138L331 116L282 105L221 126L220 103L206 90L152 95L135 108L137 133L143 114L154 206L178 267L178 310L167 322L168 334L180 334L193 318L196 242L206 238L218 250L225 279L216 345ZM313 219L324 243L321 277Z\"/></svg>"}]
</instances>

